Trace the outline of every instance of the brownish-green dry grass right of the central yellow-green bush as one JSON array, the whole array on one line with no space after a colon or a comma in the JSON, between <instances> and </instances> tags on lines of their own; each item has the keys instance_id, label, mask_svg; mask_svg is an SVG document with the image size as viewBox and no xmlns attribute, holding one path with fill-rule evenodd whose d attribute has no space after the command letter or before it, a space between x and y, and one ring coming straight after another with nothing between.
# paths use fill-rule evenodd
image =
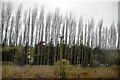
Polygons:
<instances>
[{"instance_id":1,"label":"brownish-green dry grass right of the central yellow-green bush","mask_svg":"<svg viewBox=\"0 0 120 80\"><path fill-rule=\"evenodd\" d=\"M117 78L118 68L117 66L109 67L87 67L87 68L72 68L68 77L79 77L79 78Z\"/></svg>"}]
</instances>

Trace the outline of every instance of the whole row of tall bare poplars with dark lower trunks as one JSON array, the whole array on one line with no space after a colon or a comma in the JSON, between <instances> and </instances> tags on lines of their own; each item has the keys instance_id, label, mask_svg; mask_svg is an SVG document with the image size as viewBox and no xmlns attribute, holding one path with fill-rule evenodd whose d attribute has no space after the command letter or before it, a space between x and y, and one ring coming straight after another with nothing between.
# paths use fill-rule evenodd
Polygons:
<instances>
[{"instance_id":1,"label":"whole row of tall bare poplars with dark lower trunks","mask_svg":"<svg viewBox=\"0 0 120 80\"><path fill-rule=\"evenodd\" d=\"M71 12L63 16L59 8L45 15L43 6L40 10L37 7L24 10L20 4L17 11L12 12L12 3L2 4L3 61L53 65L67 59L71 64L87 66L105 63L105 50L120 49L119 24L107 27L101 19L95 25L93 18L85 22L82 17L77 23Z\"/></svg>"}]
</instances>

